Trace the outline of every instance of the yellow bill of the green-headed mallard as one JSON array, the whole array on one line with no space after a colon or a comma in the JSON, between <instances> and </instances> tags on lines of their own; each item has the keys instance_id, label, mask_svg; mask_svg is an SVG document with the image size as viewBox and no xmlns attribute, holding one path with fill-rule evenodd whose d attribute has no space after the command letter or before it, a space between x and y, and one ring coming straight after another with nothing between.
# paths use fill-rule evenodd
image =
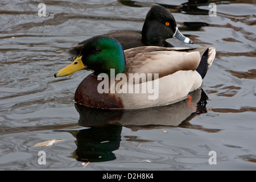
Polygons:
<instances>
[{"instance_id":1,"label":"yellow bill of the green-headed mallard","mask_svg":"<svg viewBox=\"0 0 256 182\"><path fill-rule=\"evenodd\" d=\"M61 76L68 76L71 75L72 73L75 73L77 71L80 71L81 69L87 68L84 63L82 63L82 56L77 57L73 63L69 64L67 67L61 69L60 71L57 71L54 74L54 77L61 77Z\"/></svg>"}]
</instances>

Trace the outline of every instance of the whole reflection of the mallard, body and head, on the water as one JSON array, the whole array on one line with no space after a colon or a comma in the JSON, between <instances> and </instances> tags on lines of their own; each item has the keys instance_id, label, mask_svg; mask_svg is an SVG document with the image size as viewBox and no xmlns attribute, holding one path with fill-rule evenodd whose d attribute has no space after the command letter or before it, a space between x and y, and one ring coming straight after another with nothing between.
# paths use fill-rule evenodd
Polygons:
<instances>
[{"instance_id":1,"label":"whole reflection of the mallard, body and head, on the water","mask_svg":"<svg viewBox=\"0 0 256 182\"><path fill-rule=\"evenodd\" d=\"M197 113L207 111L205 106L208 98L203 90L196 90L189 96L191 97L175 104L136 110L94 109L75 104L80 114L79 125L89 129L67 131L77 139L73 157L82 162L114 160L113 151L119 148L123 126L133 131L183 127L218 132L216 129L204 129L189 123ZM128 138L132 140L131 137Z\"/></svg>"}]
</instances>

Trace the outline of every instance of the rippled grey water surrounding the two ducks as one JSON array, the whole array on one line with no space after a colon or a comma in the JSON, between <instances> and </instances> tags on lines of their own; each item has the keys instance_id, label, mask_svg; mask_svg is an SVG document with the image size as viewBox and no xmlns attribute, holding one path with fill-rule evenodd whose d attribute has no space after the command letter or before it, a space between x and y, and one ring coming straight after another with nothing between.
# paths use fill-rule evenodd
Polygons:
<instances>
[{"instance_id":1,"label":"rippled grey water surrounding the two ducks","mask_svg":"<svg viewBox=\"0 0 256 182\"><path fill-rule=\"evenodd\" d=\"M155 1L194 44L168 42L216 47L203 94L193 93L195 104L206 104L203 114L187 110L186 101L125 113L85 110L73 96L89 72L53 77L70 63L65 50L73 44L141 31L152 2L44 1L46 17L38 16L39 2L0 2L1 170L256 169L255 1L214 1L217 16L208 15L210 2ZM52 139L62 141L33 147ZM39 151L46 164L38 164ZM208 163L209 151L217 164Z\"/></svg>"}]
</instances>

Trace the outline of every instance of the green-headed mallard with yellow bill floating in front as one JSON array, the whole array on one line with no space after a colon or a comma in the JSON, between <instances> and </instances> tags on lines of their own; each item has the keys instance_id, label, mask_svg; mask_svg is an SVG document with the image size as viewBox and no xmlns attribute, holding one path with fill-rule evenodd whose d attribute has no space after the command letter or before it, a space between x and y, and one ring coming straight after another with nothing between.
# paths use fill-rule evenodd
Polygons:
<instances>
[{"instance_id":1,"label":"green-headed mallard with yellow bill floating in front","mask_svg":"<svg viewBox=\"0 0 256 182\"><path fill-rule=\"evenodd\" d=\"M144 46L123 51L114 38L98 35L86 40L76 60L54 76L94 71L76 89L77 104L102 109L167 105L200 88L215 53L208 47Z\"/></svg>"}]
</instances>

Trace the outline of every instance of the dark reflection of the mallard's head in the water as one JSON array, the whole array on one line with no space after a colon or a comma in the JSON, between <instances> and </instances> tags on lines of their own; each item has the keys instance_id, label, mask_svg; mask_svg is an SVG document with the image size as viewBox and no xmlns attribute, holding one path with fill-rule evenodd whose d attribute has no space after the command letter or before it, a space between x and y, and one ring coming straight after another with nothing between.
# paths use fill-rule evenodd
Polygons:
<instances>
[{"instance_id":1,"label":"dark reflection of the mallard's head in the water","mask_svg":"<svg viewBox=\"0 0 256 182\"><path fill-rule=\"evenodd\" d=\"M114 160L114 150L121 141L122 126L96 126L79 131L68 131L76 138L77 149L73 158L81 162L105 162Z\"/></svg>"}]
</instances>

